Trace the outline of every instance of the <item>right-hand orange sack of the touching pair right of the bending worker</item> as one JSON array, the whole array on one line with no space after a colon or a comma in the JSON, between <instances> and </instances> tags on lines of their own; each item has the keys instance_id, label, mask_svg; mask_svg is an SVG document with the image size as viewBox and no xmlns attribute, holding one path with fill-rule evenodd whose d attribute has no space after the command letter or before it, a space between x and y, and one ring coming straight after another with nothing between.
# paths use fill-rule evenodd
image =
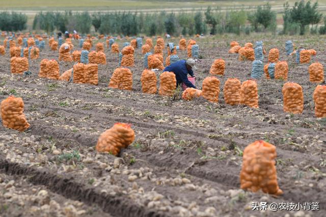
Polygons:
<instances>
[{"instance_id":1,"label":"right-hand orange sack of the touching pair right of the bending worker","mask_svg":"<svg viewBox=\"0 0 326 217\"><path fill-rule=\"evenodd\" d=\"M258 108L258 86L256 81L243 81L240 88L240 104Z\"/></svg>"}]
</instances>

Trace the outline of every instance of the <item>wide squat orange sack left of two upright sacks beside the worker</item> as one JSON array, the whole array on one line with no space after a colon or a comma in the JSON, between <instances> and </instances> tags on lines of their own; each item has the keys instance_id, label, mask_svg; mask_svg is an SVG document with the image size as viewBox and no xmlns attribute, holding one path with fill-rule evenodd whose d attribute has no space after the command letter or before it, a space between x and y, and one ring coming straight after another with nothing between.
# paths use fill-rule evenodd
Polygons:
<instances>
[{"instance_id":1,"label":"wide squat orange sack left of two upright sacks beside the worker","mask_svg":"<svg viewBox=\"0 0 326 217\"><path fill-rule=\"evenodd\" d=\"M117 68L110 79L108 87L118 89L132 89L132 73L128 68Z\"/></svg>"}]
</instances>

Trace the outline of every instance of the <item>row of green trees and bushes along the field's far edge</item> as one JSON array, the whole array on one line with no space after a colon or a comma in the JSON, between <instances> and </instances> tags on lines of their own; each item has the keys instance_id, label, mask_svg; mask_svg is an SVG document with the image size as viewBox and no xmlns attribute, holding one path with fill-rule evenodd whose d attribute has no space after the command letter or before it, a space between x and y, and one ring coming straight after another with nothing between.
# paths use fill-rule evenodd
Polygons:
<instances>
[{"instance_id":1,"label":"row of green trees and bushes along the field's far edge","mask_svg":"<svg viewBox=\"0 0 326 217\"><path fill-rule=\"evenodd\" d=\"M296 2L290 7L284 4L283 30L281 34L326 34L326 20L323 26L317 26L322 14L318 12L318 3ZM0 13L1 30L23 30L26 28L27 17L21 13ZM310 28L311 26L311 28ZM250 34L251 32L277 31L277 14L267 3L252 11L221 11L219 8L208 7L206 10L192 13L139 13L139 12L39 12L33 21L34 30L44 30L47 33L76 30L80 34L88 34L94 27L95 32L110 35L162 35L180 34L193 36L195 34Z\"/></svg>"}]
</instances>

